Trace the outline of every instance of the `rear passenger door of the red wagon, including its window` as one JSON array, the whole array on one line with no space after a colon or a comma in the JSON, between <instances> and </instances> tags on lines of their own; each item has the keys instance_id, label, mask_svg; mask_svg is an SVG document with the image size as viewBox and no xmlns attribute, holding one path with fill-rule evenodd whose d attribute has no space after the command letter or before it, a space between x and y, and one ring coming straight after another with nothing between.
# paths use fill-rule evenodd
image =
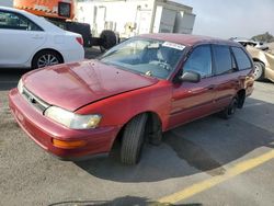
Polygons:
<instances>
[{"instance_id":1,"label":"rear passenger door of the red wagon, including its window","mask_svg":"<svg viewBox=\"0 0 274 206\"><path fill-rule=\"evenodd\" d=\"M227 45L213 45L216 110L226 107L239 88L237 65Z\"/></svg>"}]
</instances>

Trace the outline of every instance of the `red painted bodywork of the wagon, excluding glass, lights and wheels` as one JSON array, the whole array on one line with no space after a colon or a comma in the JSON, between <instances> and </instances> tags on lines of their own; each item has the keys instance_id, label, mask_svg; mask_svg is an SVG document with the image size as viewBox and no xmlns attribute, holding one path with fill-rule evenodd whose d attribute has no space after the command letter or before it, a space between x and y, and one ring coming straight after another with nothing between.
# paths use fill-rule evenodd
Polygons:
<instances>
[{"instance_id":1,"label":"red painted bodywork of the wagon, excluding glass, lights and wheels","mask_svg":"<svg viewBox=\"0 0 274 206\"><path fill-rule=\"evenodd\" d=\"M144 36L189 46L213 41L170 34ZM165 131L222 110L241 89L246 90L246 95L251 94L251 69L202 79L198 83L174 84L172 79L182 68L184 58L168 80L142 77L96 60L39 69L23 77L24 85L48 104L78 114L101 114L96 129L73 130L54 123L37 112L16 89L10 92L10 107L21 127L41 147L56 156L73 158L109 152L119 129L137 114L157 114ZM53 138L87 140L88 144L78 149L61 149L53 146Z\"/></svg>"}]
</instances>

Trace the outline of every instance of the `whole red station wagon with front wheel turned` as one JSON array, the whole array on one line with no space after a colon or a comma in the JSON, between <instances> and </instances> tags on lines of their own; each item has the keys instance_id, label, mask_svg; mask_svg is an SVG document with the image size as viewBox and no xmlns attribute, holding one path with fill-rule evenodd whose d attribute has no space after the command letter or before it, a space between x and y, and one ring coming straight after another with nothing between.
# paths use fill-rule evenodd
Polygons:
<instances>
[{"instance_id":1,"label":"whole red station wagon with front wheel turned","mask_svg":"<svg viewBox=\"0 0 274 206\"><path fill-rule=\"evenodd\" d=\"M10 91L19 125L42 148L78 160L109 153L139 161L145 139L221 112L229 118L253 90L253 62L238 43L183 34L129 38L94 60L23 76Z\"/></svg>"}]
</instances>

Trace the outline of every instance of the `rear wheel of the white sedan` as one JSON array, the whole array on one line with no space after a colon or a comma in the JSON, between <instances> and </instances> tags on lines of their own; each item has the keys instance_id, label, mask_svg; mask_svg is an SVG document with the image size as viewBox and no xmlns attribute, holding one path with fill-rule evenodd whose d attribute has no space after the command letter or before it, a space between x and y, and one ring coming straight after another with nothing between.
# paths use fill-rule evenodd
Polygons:
<instances>
[{"instance_id":1,"label":"rear wheel of the white sedan","mask_svg":"<svg viewBox=\"0 0 274 206\"><path fill-rule=\"evenodd\" d=\"M50 57L50 60L47 60ZM44 62L44 64L43 64ZM55 50L41 50L32 60L32 69L48 67L53 65L62 64L62 57Z\"/></svg>"}]
</instances>

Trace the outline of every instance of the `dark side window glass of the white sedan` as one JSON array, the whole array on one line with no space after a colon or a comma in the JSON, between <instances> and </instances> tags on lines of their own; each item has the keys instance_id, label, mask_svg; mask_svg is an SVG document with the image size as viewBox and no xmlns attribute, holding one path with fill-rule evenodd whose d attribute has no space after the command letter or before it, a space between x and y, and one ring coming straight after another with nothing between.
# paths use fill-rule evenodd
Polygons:
<instances>
[{"instance_id":1,"label":"dark side window glass of the white sedan","mask_svg":"<svg viewBox=\"0 0 274 206\"><path fill-rule=\"evenodd\" d=\"M13 12L0 11L0 28L22 30L22 31L42 31L27 18Z\"/></svg>"}]
</instances>

